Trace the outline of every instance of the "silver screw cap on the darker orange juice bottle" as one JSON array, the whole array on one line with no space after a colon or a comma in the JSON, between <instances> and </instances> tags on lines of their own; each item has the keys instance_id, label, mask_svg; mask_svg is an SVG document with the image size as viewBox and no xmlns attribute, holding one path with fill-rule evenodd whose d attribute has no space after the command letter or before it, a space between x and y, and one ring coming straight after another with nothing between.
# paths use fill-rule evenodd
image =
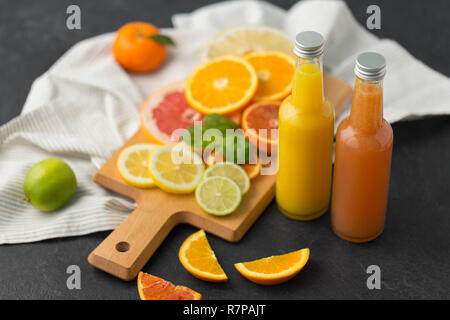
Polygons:
<instances>
[{"instance_id":1,"label":"silver screw cap on the darker orange juice bottle","mask_svg":"<svg viewBox=\"0 0 450 320\"><path fill-rule=\"evenodd\" d=\"M376 52L364 52L356 58L355 75L363 80L381 80L386 74L386 59Z\"/></svg>"}]
</instances>

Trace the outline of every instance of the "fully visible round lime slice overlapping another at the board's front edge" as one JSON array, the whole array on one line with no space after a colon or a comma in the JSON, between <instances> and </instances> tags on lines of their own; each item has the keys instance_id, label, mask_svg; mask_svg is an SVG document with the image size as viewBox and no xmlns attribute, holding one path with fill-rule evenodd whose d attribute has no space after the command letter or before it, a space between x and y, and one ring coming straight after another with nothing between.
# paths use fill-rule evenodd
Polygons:
<instances>
[{"instance_id":1,"label":"fully visible round lime slice overlapping another at the board's front edge","mask_svg":"<svg viewBox=\"0 0 450 320\"><path fill-rule=\"evenodd\" d=\"M239 186L230 178L214 176L206 178L198 185L195 199L207 213L226 216L237 209L242 194Z\"/></svg>"}]
</instances>

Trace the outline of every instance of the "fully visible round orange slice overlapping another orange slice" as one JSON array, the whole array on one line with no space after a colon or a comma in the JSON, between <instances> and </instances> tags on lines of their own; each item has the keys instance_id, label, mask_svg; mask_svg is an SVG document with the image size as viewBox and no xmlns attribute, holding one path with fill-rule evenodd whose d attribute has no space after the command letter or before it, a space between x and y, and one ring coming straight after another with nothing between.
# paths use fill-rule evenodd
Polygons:
<instances>
[{"instance_id":1,"label":"fully visible round orange slice overlapping another orange slice","mask_svg":"<svg viewBox=\"0 0 450 320\"><path fill-rule=\"evenodd\" d=\"M192 108L225 114L244 107L255 95L258 77L243 58L223 56L199 65L189 76L185 95Z\"/></svg>"}]
</instances>

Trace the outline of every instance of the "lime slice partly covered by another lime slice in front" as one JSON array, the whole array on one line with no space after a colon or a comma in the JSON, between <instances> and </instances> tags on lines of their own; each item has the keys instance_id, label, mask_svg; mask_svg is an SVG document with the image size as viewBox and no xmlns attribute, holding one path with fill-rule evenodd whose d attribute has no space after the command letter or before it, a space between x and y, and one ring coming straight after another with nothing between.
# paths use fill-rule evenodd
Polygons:
<instances>
[{"instance_id":1,"label":"lime slice partly covered by another lime slice in front","mask_svg":"<svg viewBox=\"0 0 450 320\"><path fill-rule=\"evenodd\" d=\"M206 169L204 177L227 177L233 180L242 192L246 194L250 189L250 178L245 170L232 162L219 162Z\"/></svg>"}]
</instances>

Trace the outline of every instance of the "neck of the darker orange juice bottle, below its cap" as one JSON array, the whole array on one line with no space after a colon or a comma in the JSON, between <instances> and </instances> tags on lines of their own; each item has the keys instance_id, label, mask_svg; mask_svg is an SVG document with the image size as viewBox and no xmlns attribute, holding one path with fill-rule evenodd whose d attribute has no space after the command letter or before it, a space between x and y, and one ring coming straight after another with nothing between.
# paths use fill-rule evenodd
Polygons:
<instances>
[{"instance_id":1,"label":"neck of the darker orange juice bottle, below its cap","mask_svg":"<svg viewBox=\"0 0 450 320\"><path fill-rule=\"evenodd\" d=\"M356 78L350 122L363 131L374 131L383 125L383 80Z\"/></svg>"}]
</instances>

